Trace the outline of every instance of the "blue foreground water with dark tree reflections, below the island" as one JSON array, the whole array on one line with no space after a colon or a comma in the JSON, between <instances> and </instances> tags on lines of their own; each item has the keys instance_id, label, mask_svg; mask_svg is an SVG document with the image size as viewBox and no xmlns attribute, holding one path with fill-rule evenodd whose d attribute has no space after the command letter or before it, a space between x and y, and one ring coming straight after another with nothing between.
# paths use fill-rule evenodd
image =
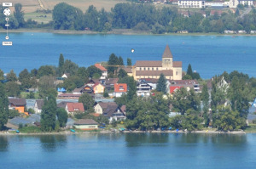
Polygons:
<instances>
[{"instance_id":1,"label":"blue foreground water with dark tree reflections, below the island","mask_svg":"<svg viewBox=\"0 0 256 169\"><path fill-rule=\"evenodd\" d=\"M0 168L254 169L256 134L0 136Z\"/></svg>"}]
</instances>

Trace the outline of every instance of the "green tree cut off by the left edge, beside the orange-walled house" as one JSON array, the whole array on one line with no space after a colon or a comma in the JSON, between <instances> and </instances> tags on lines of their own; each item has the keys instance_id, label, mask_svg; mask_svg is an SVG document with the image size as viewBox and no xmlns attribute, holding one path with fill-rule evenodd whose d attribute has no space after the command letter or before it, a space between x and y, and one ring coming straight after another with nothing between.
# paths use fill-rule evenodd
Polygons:
<instances>
[{"instance_id":1,"label":"green tree cut off by the left edge, beside the orange-walled house","mask_svg":"<svg viewBox=\"0 0 256 169\"><path fill-rule=\"evenodd\" d=\"M0 82L0 130L3 130L4 125L8 121L8 116L9 116L9 100L6 96L4 86Z\"/></svg>"}]
</instances>

